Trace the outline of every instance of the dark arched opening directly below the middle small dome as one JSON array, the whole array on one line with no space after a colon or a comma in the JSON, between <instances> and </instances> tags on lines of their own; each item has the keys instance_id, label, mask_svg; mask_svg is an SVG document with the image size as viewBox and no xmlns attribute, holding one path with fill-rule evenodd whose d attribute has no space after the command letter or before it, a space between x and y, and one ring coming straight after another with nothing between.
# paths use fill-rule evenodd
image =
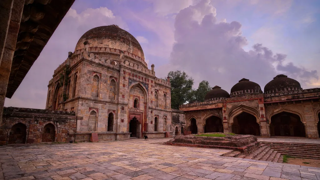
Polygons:
<instances>
[{"instance_id":1,"label":"dark arched opening directly below the middle small dome","mask_svg":"<svg viewBox=\"0 0 320 180\"><path fill-rule=\"evenodd\" d=\"M233 119L232 132L239 135L260 135L260 126L255 116L242 112Z\"/></svg>"}]
</instances>

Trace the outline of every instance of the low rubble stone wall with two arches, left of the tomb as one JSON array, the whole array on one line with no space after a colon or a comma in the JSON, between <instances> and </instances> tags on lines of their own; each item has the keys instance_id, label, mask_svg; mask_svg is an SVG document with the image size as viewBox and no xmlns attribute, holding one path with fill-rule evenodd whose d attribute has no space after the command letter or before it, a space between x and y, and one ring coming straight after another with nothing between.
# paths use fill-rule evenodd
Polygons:
<instances>
[{"instance_id":1,"label":"low rubble stone wall with two arches, left of the tomb","mask_svg":"<svg viewBox=\"0 0 320 180\"><path fill-rule=\"evenodd\" d=\"M68 134L76 131L76 116L74 112L8 107L0 126L2 145L69 142Z\"/></svg>"}]
</instances>

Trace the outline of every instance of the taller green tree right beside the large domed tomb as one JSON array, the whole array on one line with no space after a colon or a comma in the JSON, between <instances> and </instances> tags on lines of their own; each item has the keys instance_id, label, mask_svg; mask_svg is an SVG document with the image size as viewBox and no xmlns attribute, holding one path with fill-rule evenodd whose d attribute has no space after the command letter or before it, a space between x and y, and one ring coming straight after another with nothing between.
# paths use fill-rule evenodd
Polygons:
<instances>
[{"instance_id":1,"label":"taller green tree right beside the large domed tomb","mask_svg":"<svg viewBox=\"0 0 320 180\"><path fill-rule=\"evenodd\" d=\"M170 71L168 76L171 83L171 108L179 109L180 105L193 99L193 79L180 70Z\"/></svg>"}]
</instances>

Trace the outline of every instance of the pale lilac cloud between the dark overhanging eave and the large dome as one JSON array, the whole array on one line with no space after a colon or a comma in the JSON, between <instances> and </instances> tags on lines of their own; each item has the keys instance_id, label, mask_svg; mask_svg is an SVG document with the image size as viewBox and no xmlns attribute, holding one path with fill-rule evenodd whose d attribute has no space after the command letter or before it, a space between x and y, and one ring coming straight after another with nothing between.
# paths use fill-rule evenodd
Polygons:
<instances>
[{"instance_id":1,"label":"pale lilac cloud between the dark overhanging eave and the large dome","mask_svg":"<svg viewBox=\"0 0 320 180\"><path fill-rule=\"evenodd\" d=\"M74 51L79 38L89 29L116 24L128 30L127 24L106 7L88 8L82 12L70 9L53 33L11 99L4 106L44 109L48 83L53 71Z\"/></svg>"}]
</instances>

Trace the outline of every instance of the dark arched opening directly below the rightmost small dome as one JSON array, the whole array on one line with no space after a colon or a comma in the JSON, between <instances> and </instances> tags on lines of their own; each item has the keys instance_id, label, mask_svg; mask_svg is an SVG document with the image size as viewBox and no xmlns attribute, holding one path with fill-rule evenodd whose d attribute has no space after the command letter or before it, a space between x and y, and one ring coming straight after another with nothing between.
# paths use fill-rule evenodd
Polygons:
<instances>
[{"instance_id":1,"label":"dark arched opening directly below the rightmost small dome","mask_svg":"<svg viewBox=\"0 0 320 180\"><path fill-rule=\"evenodd\" d=\"M300 116L290 112L280 112L271 117L270 134L306 137L306 131Z\"/></svg>"}]
</instances>

